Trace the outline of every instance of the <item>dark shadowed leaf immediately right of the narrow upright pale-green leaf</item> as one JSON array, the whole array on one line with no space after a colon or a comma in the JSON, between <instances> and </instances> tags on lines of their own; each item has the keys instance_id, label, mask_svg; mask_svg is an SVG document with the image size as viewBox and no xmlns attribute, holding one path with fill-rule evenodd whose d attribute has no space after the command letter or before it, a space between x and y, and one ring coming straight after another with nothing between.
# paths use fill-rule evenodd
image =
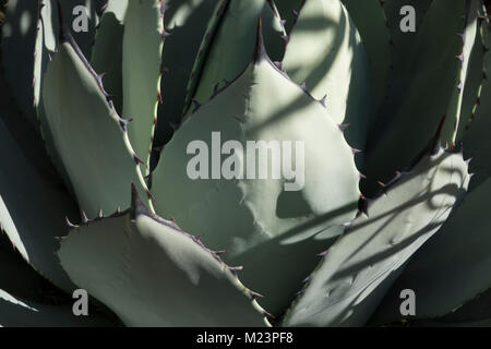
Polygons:
<instances>
[{"instance_id":1,"label":"dark shadowed leaf immediately right of the narrow upright pale-green leaf","mask_svg":"<svg viewBox=\"0 0 491 349\"><path fill-rule=\"evenodd\" d=\"M173 127L182 120L188 81L219 1L166 0L165 3L168 5L165 27L171 36L166 39L163 51L163 101L158 106L157 146L169 142Z\"/></svg>"}]
</instances>

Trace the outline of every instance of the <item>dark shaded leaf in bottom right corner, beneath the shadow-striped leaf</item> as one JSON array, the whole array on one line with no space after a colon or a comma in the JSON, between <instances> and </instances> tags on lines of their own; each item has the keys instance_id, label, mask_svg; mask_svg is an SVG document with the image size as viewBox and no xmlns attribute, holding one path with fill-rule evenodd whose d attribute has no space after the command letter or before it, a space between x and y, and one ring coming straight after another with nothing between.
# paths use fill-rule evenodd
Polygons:
<instances>
[{"instance_id":1,"label":"dark shaded leaf in bottom right corner, beneath the shadow-striped leaf","mask_svg":"<svg viewBox=\"0 0 491 349\"><path fill-rule=\"evenodd\" d=\"M488 179L464 198L438 233L412 256L374 322L391 323L402 317L397 304L403 289L412 289L417 294L417 312L411 318L431 318L451 313L491 288L490 205Z\"/></svg>"}]
</instances>

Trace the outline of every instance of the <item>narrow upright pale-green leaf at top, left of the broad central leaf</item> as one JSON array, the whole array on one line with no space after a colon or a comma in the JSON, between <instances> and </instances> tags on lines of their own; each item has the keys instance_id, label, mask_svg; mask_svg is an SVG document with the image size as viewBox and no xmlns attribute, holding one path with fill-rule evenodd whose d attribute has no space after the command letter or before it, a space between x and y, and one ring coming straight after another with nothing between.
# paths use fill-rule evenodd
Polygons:
<instances>
[{"instance_id":1,"label":"narrow upright pale-green leaf at top, left of the broad central leaf","mask_svg":"<svg viewBox=\"0 0 491 349\"><path fill-rule=\"evenodd\" d=\"M161 0L130 1L124 17L122 116L133 119L129 135L146 173L160 94L164 10Z\"/></svg>"}]
</instances>

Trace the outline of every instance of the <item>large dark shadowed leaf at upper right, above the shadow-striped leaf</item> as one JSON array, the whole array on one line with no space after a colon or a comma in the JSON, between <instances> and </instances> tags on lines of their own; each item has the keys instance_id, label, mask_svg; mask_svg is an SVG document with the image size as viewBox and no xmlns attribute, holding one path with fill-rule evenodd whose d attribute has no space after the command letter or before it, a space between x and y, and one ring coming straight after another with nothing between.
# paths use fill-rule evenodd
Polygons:
<instances>
[{"instance_id":1,"label":"large dark shadowed leaf at upper right, above the shadow-striped leaf","mask_svg":"<svg viewBox=\"0 0 491 349\"><path fill-rule=\"evenodd\" d=\"M391 120L386 124L390 131L381 136L373 134L372 141L376 142L368 149L363 171L369 179L363 188L366 194L376 191L376 180L388 181L395 170L408 167L432 137L442 117L451 110L463 68L456 56L463 52L467 34L476 35L475 29L465 31L476 22L477 12L471 11L476 9L475 2L434 0L429 8L414 43L406 79L397 89L399 97L396 103L384 105L383 112L391 115L386 119ZM443 143L452 141L456 121L455 113L447 115Z\"/></svg>"}]
</instances>

